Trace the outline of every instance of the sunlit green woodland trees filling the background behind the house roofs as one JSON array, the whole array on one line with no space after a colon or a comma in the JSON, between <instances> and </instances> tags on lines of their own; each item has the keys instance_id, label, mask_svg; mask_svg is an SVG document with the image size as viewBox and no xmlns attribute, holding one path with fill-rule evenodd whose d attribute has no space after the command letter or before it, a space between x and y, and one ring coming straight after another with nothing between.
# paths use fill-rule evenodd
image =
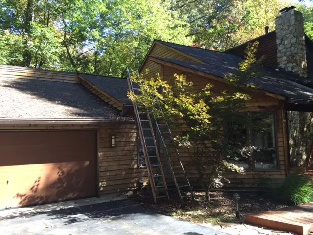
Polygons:
<instances>
[{"instance_id":1,"label":"sunlit green woodland trees filling the background behind the house roofs","mask_svg":"<svg viewBox=\"0 0 313 235\"><path fill-rule=\"evenodd\" d=\"M154 39L214 50L274 29L291 0L1 0L0 63L125 76ZM312 6L297 5L313 38Z\"/></svg>"}]
</instances>

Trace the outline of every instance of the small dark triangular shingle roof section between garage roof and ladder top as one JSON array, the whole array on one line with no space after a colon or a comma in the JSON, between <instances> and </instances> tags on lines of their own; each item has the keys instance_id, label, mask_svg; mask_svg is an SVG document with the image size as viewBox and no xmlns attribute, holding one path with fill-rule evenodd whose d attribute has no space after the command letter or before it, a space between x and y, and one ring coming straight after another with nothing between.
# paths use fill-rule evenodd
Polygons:
<instances>
[{"instance_id":1,"label":"small dark triangular shingle roof section between garage roof and ladder top","mask_svg":"<svg viewBox=\"0 0 313 235\"><path fill-rule=\"evenodd\" d=\"M128 85L126 78L95 76L89 74L80 75L123 104L132 105L132 102L127 98Z\"/></svg>"}]
</instances>

